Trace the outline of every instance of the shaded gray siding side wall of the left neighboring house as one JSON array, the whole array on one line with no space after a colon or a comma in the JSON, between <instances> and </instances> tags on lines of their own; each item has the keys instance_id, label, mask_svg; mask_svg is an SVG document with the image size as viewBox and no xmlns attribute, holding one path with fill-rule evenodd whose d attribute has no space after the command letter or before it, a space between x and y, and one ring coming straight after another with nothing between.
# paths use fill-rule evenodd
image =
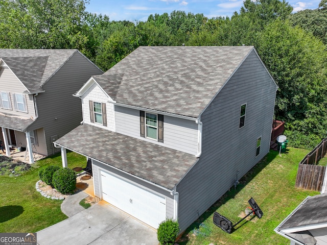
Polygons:
<instances>
[{"instance_id":1,"label":"shaded gray siding side wall of the left neighboring house","mask_svg":"<svg viewBox=\"0 0 327 245\"><path fill-rule=\"evenodd\" d=\"M81 100L74 94L92 76L100 75L95 65L76 52L42 88L36 96L39 118L29 130L44 128L47 155L59 152L53 145L52 136L62 137L80 125Z\"/></svg>"}]
</instances>

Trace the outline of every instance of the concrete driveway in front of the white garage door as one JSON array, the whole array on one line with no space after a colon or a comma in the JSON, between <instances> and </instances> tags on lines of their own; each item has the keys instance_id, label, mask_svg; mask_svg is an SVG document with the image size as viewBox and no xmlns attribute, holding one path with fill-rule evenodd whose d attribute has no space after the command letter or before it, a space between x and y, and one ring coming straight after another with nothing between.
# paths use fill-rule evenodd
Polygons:
<instances>
[{"instance_id":1,"label":"concrete driveway in front of the white garage door","mask_svg":"<svg viewBox=\"0 0 327 245\"><path fill-rule=\"evenodd\" d=\"M157 245L156 230L101 201L37 232L39 245Z\"/></svg>"}]
</instances>

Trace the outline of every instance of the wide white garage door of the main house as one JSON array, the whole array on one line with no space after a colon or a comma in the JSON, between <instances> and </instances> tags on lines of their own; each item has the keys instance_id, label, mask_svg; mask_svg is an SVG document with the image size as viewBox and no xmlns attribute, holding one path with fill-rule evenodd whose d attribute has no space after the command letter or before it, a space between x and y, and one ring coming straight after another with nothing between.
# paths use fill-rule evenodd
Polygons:
<instances>
[{"instance_id":1,"label":"wide white garage door of the main house","mask_svg":"<svg viewBox=\"0 0 327 245\"><path fill-rule=\"evenodd\" d=\"M157 229L166 219L166 198L101 171L103 200Z\"/></svg>"}]
</instances>

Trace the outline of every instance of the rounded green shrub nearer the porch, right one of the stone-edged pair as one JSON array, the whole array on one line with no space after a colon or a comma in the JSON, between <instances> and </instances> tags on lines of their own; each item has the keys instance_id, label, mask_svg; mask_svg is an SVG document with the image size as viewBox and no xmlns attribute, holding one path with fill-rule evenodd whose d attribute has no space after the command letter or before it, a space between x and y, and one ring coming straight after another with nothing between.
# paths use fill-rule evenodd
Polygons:
<instances>
[{"instance_id":1,"label":"rounded green shrub nearer the porch, right one of the stone-edged pair","mask_svg":"<svg viewBox=\"0 0 327 245\"><path fill-rule=\"evenodd\" d=\"M72 192L76 188L76 172L67 167L60 168L54 173L52 183L62 194Z\"/></svg>"}]
</instances>

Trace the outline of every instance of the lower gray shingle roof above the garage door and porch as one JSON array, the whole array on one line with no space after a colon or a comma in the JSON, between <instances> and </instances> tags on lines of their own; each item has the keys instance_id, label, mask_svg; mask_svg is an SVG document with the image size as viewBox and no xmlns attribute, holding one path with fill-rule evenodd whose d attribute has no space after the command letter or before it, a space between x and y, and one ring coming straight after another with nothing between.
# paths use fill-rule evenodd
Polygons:
<instances>
[{"instance_id":1,"label":"lower gray shingle roof above the garage door and porch","mask_svg":"<svg viewBox=\"0 0 327 245\"><path fill-rule=\"evenodd\" d=\"M56 143L168 189L197 161L194 155L87 124Z\"/></svg>"}]
</instances>

